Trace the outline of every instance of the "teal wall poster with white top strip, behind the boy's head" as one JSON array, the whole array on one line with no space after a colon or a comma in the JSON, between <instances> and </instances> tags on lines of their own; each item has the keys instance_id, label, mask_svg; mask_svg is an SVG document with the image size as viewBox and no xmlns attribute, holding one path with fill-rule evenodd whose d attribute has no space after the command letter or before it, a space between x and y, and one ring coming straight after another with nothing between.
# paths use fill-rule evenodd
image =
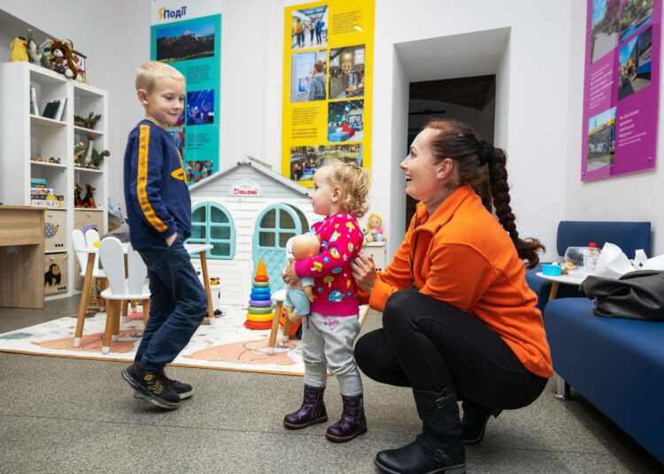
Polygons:
<instances>
[{"instance_id":1,"label":"teal wall poster with white top strip, behind the boy's head","mask_svg":"<svg viewBox=\"0 0 664 474\"><path fill-rule=\"evenodd\" d=\"M152 2L151 59L184 75L184 110L169 133L181 153L189 185L220 170L219 2Z\"/></svg>"}]
</instances>

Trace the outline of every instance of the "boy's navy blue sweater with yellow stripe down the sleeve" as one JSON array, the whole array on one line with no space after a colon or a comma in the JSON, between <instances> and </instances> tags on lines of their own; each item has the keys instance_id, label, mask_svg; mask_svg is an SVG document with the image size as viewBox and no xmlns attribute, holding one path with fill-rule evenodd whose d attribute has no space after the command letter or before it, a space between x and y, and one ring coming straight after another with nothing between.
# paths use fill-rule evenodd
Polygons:
<instances>
[{"instance_id":1,"label":"boy's navy blue sweater with yellow stripe down the sleeve","mask_svg":"<svg viewBox=\"0 0 664 474\"><path fill-rule=\"evenodd\" d=\"M125 203L129 238L136 250L173 233L191 235L191 199L180 152L166 130L143 119L125 150Z\"/></svg>"}]
</instances>

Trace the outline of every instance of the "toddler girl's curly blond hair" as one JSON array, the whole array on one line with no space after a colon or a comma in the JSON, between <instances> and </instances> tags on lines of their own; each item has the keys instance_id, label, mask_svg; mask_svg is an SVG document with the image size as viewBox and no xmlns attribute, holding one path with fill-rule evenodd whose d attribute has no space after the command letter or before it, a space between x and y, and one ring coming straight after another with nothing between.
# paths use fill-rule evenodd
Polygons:
<instances>
[{"instance_id":1,"label":"toddler girl's curly blond hair","mask_svg":"<svg viewBox=\"0 0 664 474\"><path fill-rule=\"evenodd\" d=\"M364 216L369 208L367 204L369 172L367 169L354 163L336 160L319 168L316 174L322 170L327 172L330 185L341 188L341 211L356 218Z\"/></svg>"}]
</instances>

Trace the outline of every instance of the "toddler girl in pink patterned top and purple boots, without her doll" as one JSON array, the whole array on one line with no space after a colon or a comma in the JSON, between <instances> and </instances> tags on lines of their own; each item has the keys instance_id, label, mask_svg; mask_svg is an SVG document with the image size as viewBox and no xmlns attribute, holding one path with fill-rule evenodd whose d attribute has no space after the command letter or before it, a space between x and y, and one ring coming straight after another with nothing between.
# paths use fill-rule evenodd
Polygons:
<instances>
[{"instance_id":1,"label":"toddler girl in pink patterned top and purple boots, without her doll","mask_svg":"<svg viewBox=\"0 0 664 474\"><path fill-rule=\"evenodd\" d=\"M283 424L300 429L323 423L327 369L336 375L344 401L341 419L328 427L332 441L349 441L367 431L362 406L362 381L352 353L359 333L358 287L351 262L358 256L363 233L358 219L367 212L369 178L357 164L333 162L313 175L313 211L325 220L313 225L320 255L299 260L284 270L284 279L312 277L315 299L302 333L305 396L302 406L286 415Z\"/></svg>"}]
</instances>

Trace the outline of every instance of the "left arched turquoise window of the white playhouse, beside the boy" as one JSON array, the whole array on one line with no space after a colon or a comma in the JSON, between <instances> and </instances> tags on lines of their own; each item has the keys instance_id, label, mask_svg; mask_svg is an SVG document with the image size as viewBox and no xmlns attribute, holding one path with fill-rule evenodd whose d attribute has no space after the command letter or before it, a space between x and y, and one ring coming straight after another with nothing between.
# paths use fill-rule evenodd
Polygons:
<instances>
[{"instance_id":1,"label":"left arched turquoise window of the white playhouse, beside the boy","mask_svg":"<svg viewBox=\"0 0 664 474\"><path fill-rule=\"evenodd\" d=\"M200 203L191 210L191 237L187 243L205 243L212 248L205 252L212 260L235 257L235 226L228 210L218 203ZM191 256L198 258L198 256Z\"/></svg>"}]
</instances>

